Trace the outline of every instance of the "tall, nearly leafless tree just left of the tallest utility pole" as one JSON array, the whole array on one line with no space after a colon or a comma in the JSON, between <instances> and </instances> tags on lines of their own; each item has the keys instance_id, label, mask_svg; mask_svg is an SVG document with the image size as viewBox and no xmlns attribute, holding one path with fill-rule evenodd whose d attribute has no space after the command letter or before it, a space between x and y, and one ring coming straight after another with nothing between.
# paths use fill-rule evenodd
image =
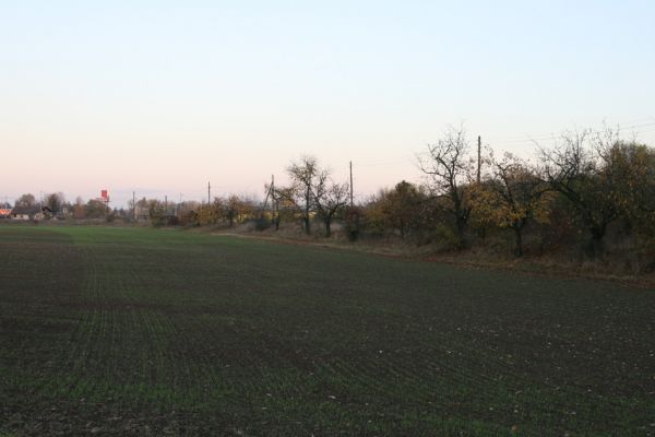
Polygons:
<instances>
[{"instance_id":1,"label":"tall, nearly leafless tree just left of the tallest utility pole","mask_svg":"<svg viewBox=\"0 0 655 437\"><path fill-rule=\"evenodd\" d=\"M428 177L432 194L454 218L460 248L466 246L466 227L472 205L465 182L471 178L467 156L468 142L464 128L450 126L436 144L428 144L427 153L418 157L420 170Z\"/></svg>"}]
</instances>

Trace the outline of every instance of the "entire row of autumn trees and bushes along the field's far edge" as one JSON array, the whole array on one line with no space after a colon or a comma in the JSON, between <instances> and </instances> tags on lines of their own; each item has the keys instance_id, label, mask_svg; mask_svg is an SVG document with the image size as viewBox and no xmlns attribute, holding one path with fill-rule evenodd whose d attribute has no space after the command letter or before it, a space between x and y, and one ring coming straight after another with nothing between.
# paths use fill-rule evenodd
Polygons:
<instances>
[{"instance_id":1,"label":"entire row of autumn trees and bushes along the field's far edge","mask_svg":"<svg viewBox=\"0 0 655 437\"><path fill-rule=\"evenodd\" d=\"M619 241L614 246L655 269L655 151L610 128L567 131L555 145L537 149L535 163L489 147L478 160L463 127L450 127L417 155L422 184L402 180L356 203L347 181L334 180L315 156L301 156L285 169L288 184L265 186L264 201L240 196L209 203L141 199L128 210L108 211L96 200L78 198L71 204L51 193L45 204L55 212L68 205L75 218L114 214L133 220L139 210L154 225L234 227L248 222L257 229L298 226L307 235L317 227L324 237L338 223L340 234L352 240L398 239L456 251L511 240L515 257L526 250L564 250L598 259L610 235ZM35 203L32 194L16 201Z\"/></svg>"}]
</instances>

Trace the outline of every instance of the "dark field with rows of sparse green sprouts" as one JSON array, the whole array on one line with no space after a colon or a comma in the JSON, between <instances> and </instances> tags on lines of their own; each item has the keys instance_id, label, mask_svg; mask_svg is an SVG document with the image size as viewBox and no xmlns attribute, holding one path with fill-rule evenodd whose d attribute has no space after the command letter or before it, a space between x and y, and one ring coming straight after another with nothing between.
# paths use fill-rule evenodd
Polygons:
<instances>
[{"instance_id":1,"label":"dark field with rows of sparse green sprouts","mask_svg":"<svg viewBox=\"0 0 655 437\"><path fill-rule=\"evenodd\" d=\"M0 227L0 435L655 433L655 294L182 231Z\"/></svg>"}]
</instances>

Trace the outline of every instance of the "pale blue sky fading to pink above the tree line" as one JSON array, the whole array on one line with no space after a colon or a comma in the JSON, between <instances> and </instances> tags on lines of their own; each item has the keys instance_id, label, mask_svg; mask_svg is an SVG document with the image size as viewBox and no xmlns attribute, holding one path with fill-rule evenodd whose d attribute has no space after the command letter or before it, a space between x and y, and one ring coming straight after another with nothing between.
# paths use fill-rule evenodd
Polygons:
<instances>
[{"instance_id":1,"label":"pale blue sky fading to pink above the tree line","mask_svg":"<svg viewBox=\"0 0 655 437\"><path fill-rule=\"evenodd\" d=\"M463 125L655 146L653 1L0 0L0 200L263 197L317 156L365 199Z\"/></svg>"}]
</instances>

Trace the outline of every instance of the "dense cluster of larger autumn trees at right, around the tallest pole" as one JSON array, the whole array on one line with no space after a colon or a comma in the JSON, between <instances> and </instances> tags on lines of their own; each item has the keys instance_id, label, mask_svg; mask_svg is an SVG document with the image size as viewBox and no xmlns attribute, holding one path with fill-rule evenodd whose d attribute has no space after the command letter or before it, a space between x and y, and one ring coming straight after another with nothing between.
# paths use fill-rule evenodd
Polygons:
<instances>
[{"instance_id":1,"label":"dense cluster of larger autumn trees at right, around the tallest pole","mask_svg":"<svg viewBox=\"0 0 655 437\"><path fill-rule=\"evenodd\" d=\"M585 257L605 255L609 232L653 259L655 151L606 128L563 132L538 147L537 164L487 149L481 172L462 128L450 128L419 157L426 182L405 181L364 205L365 223L401 238L439 235L457 250L484 244L490 233L513 235L524 255L524 234L540 246L580 243ZM479 176L478 176L479 175ZM427 237L429 238L429 237Z\"/></svg>"}]
</instances>

